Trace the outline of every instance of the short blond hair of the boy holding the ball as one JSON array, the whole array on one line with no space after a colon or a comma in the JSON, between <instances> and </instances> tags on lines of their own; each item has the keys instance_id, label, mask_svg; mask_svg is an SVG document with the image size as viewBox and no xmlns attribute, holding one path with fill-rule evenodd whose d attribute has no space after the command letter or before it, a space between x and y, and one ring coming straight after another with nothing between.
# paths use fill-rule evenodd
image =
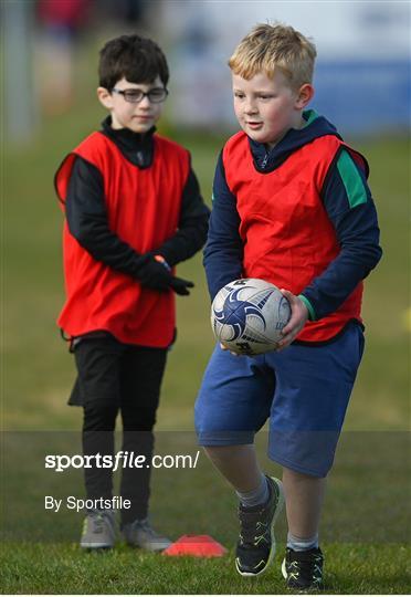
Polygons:
<instances>
[{"instance_id":1,"label":"short blond hair of the boy holding the ball","mask_svg":"<svg viewBox=\"0 0 411 597\"><path fill-rule=\"evenodd\" d=\"M317 52L299 31L282 23L260 23L235 48L229 60L232 72L250 80L261 72L270 77L278 69L289 86L299 88L313 82Z\"/></svg>"}]
</instances>

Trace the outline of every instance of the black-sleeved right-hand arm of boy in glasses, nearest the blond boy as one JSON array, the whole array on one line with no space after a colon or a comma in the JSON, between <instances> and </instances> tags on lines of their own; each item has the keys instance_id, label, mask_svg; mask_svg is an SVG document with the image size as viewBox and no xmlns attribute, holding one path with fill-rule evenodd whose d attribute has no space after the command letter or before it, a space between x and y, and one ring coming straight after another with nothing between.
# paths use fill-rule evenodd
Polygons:
<instances>
[{"instance_id":1,"label":"black-sleeved right-hand arm of boy in glasses, nearest the blond boy","mask_svg":"<svg viewBox=\"0 0 411 597\"><path fill-rule=\"evenodd\" d=\"M178 231L156 249L169 265L176 265L192 256L207 239L210 210L205 206L197 176L190 168L181 197L181 212Z\"/></svg>"}]
</instances>

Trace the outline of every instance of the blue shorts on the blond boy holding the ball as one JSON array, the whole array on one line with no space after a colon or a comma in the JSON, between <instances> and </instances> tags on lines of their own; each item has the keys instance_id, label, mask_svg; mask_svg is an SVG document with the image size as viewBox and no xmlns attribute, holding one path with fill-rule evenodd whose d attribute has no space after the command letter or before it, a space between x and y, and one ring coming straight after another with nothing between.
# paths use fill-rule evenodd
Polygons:
<instances>
[{"instance_id":1,"label":"blue shorts on the blond boy holding the ball","mask_svg":"<svg viewBox=\"0 0 411 597\"><path fill-rule=\"evenodd\" d=\"M270 418L268 457L326 476L363 352L352 322L328 344L236 357L218 345L196 402L200 446L253 443Z\"/></svg>"}]
</instances>

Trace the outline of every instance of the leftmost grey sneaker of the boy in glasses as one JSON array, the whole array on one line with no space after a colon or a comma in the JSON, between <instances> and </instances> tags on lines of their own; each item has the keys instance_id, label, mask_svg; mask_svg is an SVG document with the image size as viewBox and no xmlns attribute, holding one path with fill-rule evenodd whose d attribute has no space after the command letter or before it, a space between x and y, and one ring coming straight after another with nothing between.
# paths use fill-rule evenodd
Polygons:
<instances>
[{"instance_id":1,"label":"leftmost grey sneaker of the boy in glasses","mask_svg":"<svg viewBox=\"0 0 411 597\"><path fill-rule=\"evenodd\" d=\"M80 546L84 549L109 549L116 538L113 510L88 510L83 523Z\"/></svg>"}]
</instances>

